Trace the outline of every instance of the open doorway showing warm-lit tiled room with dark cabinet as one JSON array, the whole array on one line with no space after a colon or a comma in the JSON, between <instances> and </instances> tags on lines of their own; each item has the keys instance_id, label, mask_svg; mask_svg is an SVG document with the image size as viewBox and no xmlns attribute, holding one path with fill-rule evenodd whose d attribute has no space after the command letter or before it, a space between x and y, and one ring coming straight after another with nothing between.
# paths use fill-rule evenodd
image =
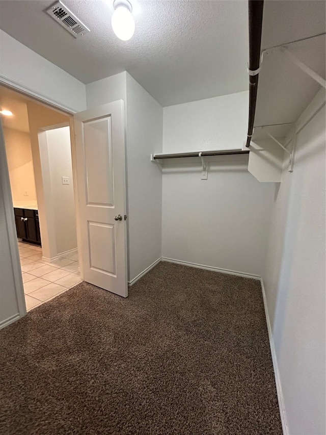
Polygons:
<instances>
[{"instance_id":1,"label":"open doorway showing warm-lit tiled room with dark cabinet","mask_svg":"<svg viewBox=\"0 0 326 435\"><path fill-rule=\"evenodd\" d=\"M0 87L26 310L78 284L80 277L70 117Z\"/></svg>"}]
</instances>

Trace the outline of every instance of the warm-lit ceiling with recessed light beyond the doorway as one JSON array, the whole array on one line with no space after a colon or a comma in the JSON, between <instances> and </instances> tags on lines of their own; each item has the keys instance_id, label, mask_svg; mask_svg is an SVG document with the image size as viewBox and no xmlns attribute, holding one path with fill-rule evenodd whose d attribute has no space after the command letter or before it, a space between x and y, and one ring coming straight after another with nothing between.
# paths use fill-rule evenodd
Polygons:
<instances>
[{"instance_id":1,"label":"warm-lit ceiling with recessed light beyond the doorway","mask_svg":"<svg viewBox=\"0 0 326 435\"><path fill-rule=\"evenodd\" d=\"M0 107L1 110L10 110L13 116L2 116L4 127L9 129L19 130L21 132L29 132L29 117L27 112L28 99L11 91L3 86L0 86Z\"/></svg>"}]
</instances>

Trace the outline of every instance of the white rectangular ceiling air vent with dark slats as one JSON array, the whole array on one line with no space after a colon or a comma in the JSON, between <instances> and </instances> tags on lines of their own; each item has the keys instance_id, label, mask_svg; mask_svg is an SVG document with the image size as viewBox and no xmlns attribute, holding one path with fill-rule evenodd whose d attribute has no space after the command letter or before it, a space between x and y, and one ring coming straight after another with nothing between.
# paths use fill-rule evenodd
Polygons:
<instances>
[{"instance_id":1,"label":"white rectangular ceiling air vent with dark slats","mask_svg":"<svg viewBox=\"0 0 326 435\"><path fill-rule=\"evenodd\" d=\"M90 30L61 2L56 2L45 11L50 17L59 22L75 38L80 38Z\"/></svg>"}]
</instances>

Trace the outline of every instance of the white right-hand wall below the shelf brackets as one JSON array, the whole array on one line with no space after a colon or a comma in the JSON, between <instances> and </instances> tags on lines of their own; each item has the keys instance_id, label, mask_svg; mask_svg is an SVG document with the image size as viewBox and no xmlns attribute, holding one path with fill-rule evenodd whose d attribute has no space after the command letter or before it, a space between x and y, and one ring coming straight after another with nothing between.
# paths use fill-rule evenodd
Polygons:
<instances>
[{"instance_id":1,"label":"white right-hand wall below the shelf brackets","mask_svg":"<svg viewBox=\"0 0 326 435\"><path fill-rule=\"evenodd\" d=\"M324 107L298 135L294 171L285 167L276 189L263 283L289 433L324 434Z\"/></svg>"}]
</instances>

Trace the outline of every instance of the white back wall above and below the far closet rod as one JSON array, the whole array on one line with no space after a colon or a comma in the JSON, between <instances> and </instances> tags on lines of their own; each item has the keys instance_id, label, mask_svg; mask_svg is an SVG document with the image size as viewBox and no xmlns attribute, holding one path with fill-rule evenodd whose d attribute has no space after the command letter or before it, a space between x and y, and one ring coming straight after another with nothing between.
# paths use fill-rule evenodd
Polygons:
<instances>
[{"instance_id":1,"label":"white back wall above and below the far closet rod","mask_svg":"<svg viewBox=\"0 0 326 435\"><path fill-rule=\"evenodd\" d=\"M164 152L241 148L248 92L164 108ZM215 161L215 162L213 162ZM164 164L162 257L261 275L274 185L248 172L248 156Z\"/></svg>"}]
</instances>

